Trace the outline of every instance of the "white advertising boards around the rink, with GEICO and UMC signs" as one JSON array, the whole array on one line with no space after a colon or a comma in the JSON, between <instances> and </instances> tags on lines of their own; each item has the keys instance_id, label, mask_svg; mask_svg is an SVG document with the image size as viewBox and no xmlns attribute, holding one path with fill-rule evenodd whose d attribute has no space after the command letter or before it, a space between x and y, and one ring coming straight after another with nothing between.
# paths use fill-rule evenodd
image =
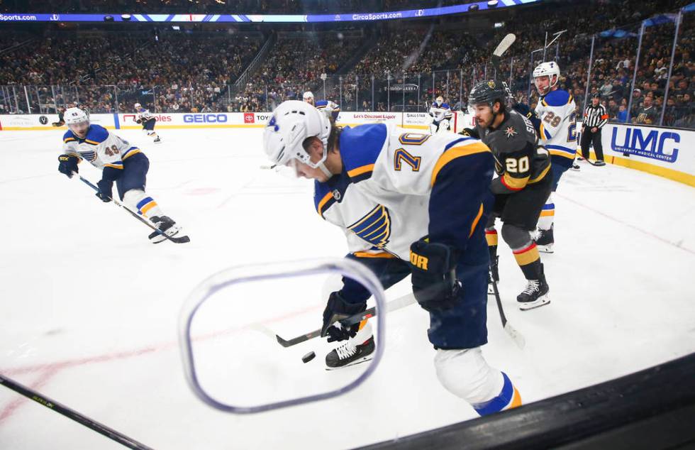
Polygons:
<instances>
[{"instance_id":1,"label":"white advertising boards around the rink, with GEICO and UMC signs","mask_svg":"<svg viewBox=\"0 0 695 450\"><path fill-rule=\"evenodd\" d=\"M156 114L157 129L166 128L262 128L269 112L172 113ZM140 129L135 114L91 114L91 122L110 129ZM57 114L0 115L0 131L48 131ZM418 112L341 112L338 122L345 126L386 123L402 128L428 130L431 118ZM456 132L472 127L472 116L454 114ZM65 129L65 126L60 127ZM581 129L581 125L577 127ZM669 180L695 186L695 131L606 124L601 140L607 163L650 172Z\"/></svg>"}]
</instances>

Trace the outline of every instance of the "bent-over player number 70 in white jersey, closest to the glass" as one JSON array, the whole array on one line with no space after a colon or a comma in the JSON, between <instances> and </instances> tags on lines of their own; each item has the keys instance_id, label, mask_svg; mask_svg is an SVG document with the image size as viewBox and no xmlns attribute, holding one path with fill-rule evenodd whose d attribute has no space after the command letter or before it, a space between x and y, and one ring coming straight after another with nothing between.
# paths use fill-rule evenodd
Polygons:
<instances>
[{"instance_id":1,"label":"bent-over player number 70 in white jersey, closest to the glass","mask_svg":"<svg viewBox=\"0 0 695 450\"><path fill-rule=\"evenodd\" d=\"M340 128L301 101L273 111L264 147L272 163L315 180L316 210L345 231L346 258L367 265L385 289L412 275L413 294L430 316L440 383L479 415L521 405L511 380L480 349L487 342L489 148L453 133L399 133L386 124ZM371 357L369 323L336 322L364 311L369 295L343 278L328 297L321 335L345 341L326 356L328 368Z\"/></svg>"}]
</instances>

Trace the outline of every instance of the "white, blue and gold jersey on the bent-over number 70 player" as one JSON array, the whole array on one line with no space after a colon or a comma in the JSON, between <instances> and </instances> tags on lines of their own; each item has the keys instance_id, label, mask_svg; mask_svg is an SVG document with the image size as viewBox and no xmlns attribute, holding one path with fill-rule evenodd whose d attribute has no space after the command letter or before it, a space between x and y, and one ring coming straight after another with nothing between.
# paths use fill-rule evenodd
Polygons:
<instances>
[{"instance_id":1,"label":"white, blue and gold jersey on the bent-over number 70 player","mask_svg":"<svg viewBox=\"0 0 695 450\"><path fill-rule=\"evenodd\" d=\"M411 133L384 124L346 127L340 136L343 173L328 182L316 182L316 209L323 219L345 231L349 251L358 258L408 260L411 243L432 236L430 219L442 214L440 207L433 212L435 205L430 204L438 174L453 158L481 154L492 160L484 143L454 133ZM492 170L487 176L468 192L457 190L457 201L489 190ZM482 204L475 202L467 211L455 212L458 218L470 217L455 231L464 240L474 234L482 218ZM456 219L446 216L441 226Z\"/></svg>"}]
</instances>

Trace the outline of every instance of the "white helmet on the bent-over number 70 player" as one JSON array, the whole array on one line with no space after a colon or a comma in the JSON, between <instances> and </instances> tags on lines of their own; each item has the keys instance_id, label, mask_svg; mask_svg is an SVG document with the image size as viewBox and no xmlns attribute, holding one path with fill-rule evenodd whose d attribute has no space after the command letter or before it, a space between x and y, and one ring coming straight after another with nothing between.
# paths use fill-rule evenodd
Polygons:
<instances>
[{"instance_id":1,"label":"white helmet on the bent-over number 70 player","mask_svg":"<svg viewBox=\"0 0 695 450\"><path fill-rule=\"evenodd\" d=\"M292 160L299 160L311 168L323 167L328 155L329 134L330 121L326 114L306 101L283 101L265 126L263 150L274 165L290 165ZM323 142L323 157L316 163L302 146L311 136Z\"/></svg>"}]
</instances>

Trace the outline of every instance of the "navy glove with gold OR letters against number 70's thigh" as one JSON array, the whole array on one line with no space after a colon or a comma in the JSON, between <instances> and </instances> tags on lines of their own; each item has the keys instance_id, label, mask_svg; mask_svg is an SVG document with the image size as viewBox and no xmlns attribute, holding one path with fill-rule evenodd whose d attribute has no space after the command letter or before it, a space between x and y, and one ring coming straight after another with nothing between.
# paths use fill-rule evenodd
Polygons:
<instances>
[{"instance_id":1,"label":"navy glove with gold OR letters against number 70's thigh","mask_svg":"<svg viewBox=\"0 0 695 450\"><path fill-rule=\"evenodd\" d=\"M413 294L429 312L450 309L459 300L461 282L456 279L456 255L452 247L426 238L410 246Z\"/></svg>"}]
</instances>

